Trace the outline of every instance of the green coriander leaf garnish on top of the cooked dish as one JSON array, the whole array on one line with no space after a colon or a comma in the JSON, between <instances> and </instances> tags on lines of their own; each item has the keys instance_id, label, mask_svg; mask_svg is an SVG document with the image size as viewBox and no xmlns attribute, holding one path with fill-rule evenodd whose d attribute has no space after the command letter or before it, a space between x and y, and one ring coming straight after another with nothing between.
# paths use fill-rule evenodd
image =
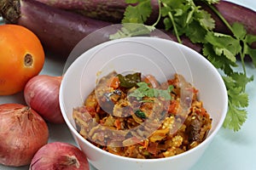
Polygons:
<instances>
[{"instance_id":1,"label":"green coriander leaf garnish on top of the cooked dish","mask_svg":"<svg viewBox=\"0 0 256 170\"><path fill-rule=\"evenodd\" d=\"M143 97L157 98L162 97L166 100L172 99L171 92L173 86L170 85L166 90L158 88L149 88L148 83L146 82L137 82L137 87L131 94L128 94L129 97L135 97L137 100L143 99Z\"/></svg>"}]
</instances>

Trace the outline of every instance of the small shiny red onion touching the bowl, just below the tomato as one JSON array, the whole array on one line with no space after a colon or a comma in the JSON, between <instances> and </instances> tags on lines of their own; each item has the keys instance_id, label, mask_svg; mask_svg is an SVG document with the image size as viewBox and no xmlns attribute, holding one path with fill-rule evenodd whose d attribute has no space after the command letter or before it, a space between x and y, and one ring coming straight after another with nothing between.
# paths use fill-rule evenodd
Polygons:
<instances>
[{"instance_id":1,"label":"small shiny red onion touching the bowl, just below the tomato","mask_svg":"<svg viewBox=\"0 0 256 170\"><path fill-rule=\"evenodd\" d=\"M38 75L32 77L24 89L26 104L48 122L64 122L59 103L61 80L62 77Z\"/></svg>"}]
</instances>

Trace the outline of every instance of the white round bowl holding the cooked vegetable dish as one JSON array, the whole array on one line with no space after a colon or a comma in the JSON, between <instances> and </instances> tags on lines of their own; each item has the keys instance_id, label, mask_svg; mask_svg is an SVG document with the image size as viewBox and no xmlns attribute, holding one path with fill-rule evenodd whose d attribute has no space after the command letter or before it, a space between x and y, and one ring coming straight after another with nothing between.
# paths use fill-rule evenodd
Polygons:
<instances>
[{"instance_id":1,"label":"white round bowl holding the cooked vegetable dish","mask_svg":"<svg viewBox=\"0 0 256 170\"><path fill-rule=\"evenodd\" d=\"M153 74L160 81L174 73L183 75L199 89L199 97L212 117L212 129L207 139L180 155L150 160L115 156L90 144L75 128L73 108L83 105L86 96L95 88L96 80L110 71L141 71ZM90 48L69 66L60 91L61 111L67 126L90 163L99 170L189 169L218 133L224 122L227 103L222 77L207 59L177 42L157 37L123 38Z\"/></svg>"}]
</instances>

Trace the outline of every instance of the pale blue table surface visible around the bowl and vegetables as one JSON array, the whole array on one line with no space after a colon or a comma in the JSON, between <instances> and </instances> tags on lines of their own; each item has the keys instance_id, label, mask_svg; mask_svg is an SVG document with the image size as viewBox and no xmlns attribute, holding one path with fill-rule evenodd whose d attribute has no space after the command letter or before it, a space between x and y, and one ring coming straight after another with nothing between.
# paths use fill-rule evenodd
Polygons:
<instances>
[{"instance_id":1,"label":"pale blue table surface visible around the bowl and vegetables","mask_svg":"<svg viewBox=\"0 0 256 170\"><path fill-rule=\"evenodd\" d=\"M229 0L247 8L256 10L255 0ZM256 23L255 23L256 25ZM40 74L61 76L66 61L47 56L44 69ZM240 68L238 68L240 69ZM253 75L255 80L247 86L249 94L249 107L247 108L247 122L243 124L239 132L234 133L229 129L221 128L213 139L206 152L201 156L191 170L255 170L256 169L256 69L247 64L248 76ZM18 102L25 104L23 94L12 96L0 96L0 104ZM75 144L66 125L49 124L49 142L62 141ZM0 170L26 170L28 167L4 167ZM160 169L160 168L159 168ZM170 167L172 169L172 167ZM90 167L90 170L96 170Z\"/></svg>"}]
</instances>

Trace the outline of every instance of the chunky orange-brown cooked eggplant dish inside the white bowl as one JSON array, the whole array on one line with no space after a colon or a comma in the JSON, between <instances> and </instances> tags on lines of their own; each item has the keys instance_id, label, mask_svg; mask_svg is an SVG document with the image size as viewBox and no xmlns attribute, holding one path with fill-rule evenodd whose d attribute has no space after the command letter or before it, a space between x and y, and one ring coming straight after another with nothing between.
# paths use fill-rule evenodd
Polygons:
<instances>
[{"instance_id":1,"label":"chunky orange-brown cooked eggplant dish inside the white bowl","mask_svg":"<svg viewBox=\"0 0 256 170\"><path fill-rule=\"evenodd\" d=\"M102 77L84 105L73 109L78 132L102 150L153 159L201 144L212 118L198 90L175 74L165 82L142 73Z\"/></svg>"}]
</instances>

